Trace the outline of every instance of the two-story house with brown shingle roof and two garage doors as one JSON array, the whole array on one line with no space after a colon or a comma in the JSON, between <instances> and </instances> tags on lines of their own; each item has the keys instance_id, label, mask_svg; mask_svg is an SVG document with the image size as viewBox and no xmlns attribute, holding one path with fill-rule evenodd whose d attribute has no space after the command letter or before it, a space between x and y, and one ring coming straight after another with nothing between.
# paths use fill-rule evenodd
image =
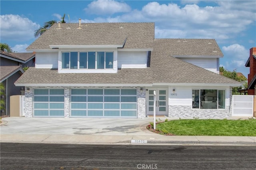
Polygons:
<instances>
[{"instance_id":1,"label":"two-story house with brown shingle roof and two garage doors","mask_svg":"<svg viewBox=\"0 0 256 170\"><path fill-rule=\"evenodd\" d=\"M27 51L26 117L228 117L240 85L214 39L155 39L154 23L56 23Z\"/></svg>"}]
</instances>

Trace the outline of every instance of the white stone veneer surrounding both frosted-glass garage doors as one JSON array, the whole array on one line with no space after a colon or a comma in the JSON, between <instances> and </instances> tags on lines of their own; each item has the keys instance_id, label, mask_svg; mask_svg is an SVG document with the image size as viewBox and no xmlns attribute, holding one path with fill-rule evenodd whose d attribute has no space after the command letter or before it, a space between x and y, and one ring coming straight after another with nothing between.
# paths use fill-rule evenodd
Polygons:
<instances>
[{"instance_id":1,"label":"white stone veneer surrounding both frosted-glass garage doors","mask_svg":"<svg viewBox=\"0 0 256 170\"><path fill-rule=\"evenodd\" d=\"M26 89L29 88L29 91ZM146 117L146 91L145 88L143 88L143 91L140 92L140 87L131 87L131 86L126 86L126 87L83 87L83 86L75 86L75 87L70 87L70 86L33 86L25 87L25 117L33 117L33 101L34 101L34 89L40 89L40 88L64 88L64 117L69 118L70 117L70 89L71 88L136 88L137 89L137 113L138 113L138 118L144 118Z\"/></svg>"}]
</instances>

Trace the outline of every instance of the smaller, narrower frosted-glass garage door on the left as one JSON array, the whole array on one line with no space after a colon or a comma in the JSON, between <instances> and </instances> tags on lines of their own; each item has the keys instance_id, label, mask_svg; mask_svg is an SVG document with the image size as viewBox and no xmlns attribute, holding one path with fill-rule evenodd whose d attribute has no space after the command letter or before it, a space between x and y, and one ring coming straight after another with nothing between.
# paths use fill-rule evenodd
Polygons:
<instances>
[{"instance_id":1,"label":"smaller, narrower frosted-glass garage door on the left","mask_svg":"<svg viewBox=\"0 0 256 170\"><path fill-rule=\"evenodd\" d=\"M64 89L35 89L34 117L64 117Z\"/></svg>"}]
</instances>

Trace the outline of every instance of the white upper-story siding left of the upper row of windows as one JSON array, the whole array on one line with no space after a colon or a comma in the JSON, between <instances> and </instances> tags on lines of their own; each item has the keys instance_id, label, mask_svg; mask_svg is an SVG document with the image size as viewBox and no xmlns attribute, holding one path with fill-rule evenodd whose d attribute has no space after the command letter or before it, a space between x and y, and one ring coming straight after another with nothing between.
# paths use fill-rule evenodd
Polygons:
<instances>
[{"instance_id":1,"label":"white upper-story siding left of the upper row of windows","mask_svg":"<svg viewBox=\"0 0 256 170\"><path fill-rule=\"evenodd\" d=\"M58 68L58 52L36 52L36 68Z\"/></svg>"}]
</instances>

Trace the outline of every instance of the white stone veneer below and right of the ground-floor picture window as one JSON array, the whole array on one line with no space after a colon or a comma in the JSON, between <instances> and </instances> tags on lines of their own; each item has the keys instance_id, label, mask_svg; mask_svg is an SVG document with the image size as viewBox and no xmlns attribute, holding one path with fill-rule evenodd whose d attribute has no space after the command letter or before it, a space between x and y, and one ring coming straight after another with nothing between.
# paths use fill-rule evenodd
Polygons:
<instances>
[{"instance_id":1,"label":"white stone veneer below and right of the ground-floor picture window","mask_svg":"<svg viewBox=\"0 0 256 170\"><path fill-rule=\"evenodd\" d=\"M169 105L169 117L199 117L212 118L221 117L226 118L232 116L232 87L230 87L229 106L226 109L192 109L192 106L173 106Z\"/></svg>"}]
</instances>

